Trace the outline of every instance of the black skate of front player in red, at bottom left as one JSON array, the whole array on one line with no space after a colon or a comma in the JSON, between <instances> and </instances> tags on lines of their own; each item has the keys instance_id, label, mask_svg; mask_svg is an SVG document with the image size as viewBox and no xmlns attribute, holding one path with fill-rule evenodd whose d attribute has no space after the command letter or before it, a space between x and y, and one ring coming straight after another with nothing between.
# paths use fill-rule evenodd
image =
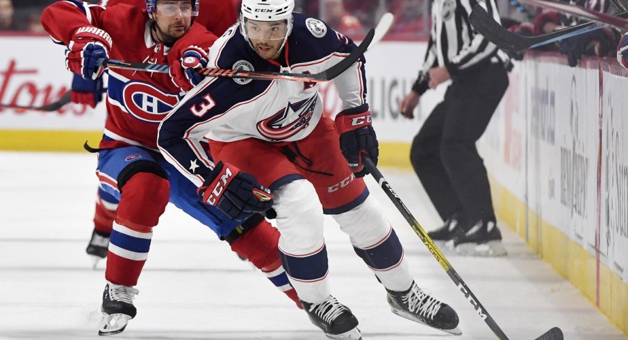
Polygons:
<instances>
[{"instance_id":1,"label":"black skate of front player in red, at bottom left","mask_svg":"<svg viewBox=\"0 0 628 340\"><path fill-rule=\"evenodd\" d=\"M118 334L126 328L138 310L133 306L133 298L140 294L138 289L107 282L103 293L103 320L98 335Z\"/></svg>"}]
</instances>

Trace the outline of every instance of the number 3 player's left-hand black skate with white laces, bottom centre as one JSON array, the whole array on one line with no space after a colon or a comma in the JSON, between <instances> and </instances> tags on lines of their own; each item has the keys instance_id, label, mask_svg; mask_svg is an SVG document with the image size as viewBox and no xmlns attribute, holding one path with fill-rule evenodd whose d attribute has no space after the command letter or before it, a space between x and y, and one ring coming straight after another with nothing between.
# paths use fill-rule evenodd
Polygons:
<instances>
[{"instance_id":1,"label":"number 3 player's left-hand black skate with white laces, bottom centre","mask_svg":"<svg viewBox=\"0 0 628 340\"><path fill-rule=\"evenodd\" d=\"M308 313L312 323L323 330L331 339L362 339L358 330L358 319L333 296L322 303L306 303L301 300L303 309Z\"/></svg>"}]
</instances>

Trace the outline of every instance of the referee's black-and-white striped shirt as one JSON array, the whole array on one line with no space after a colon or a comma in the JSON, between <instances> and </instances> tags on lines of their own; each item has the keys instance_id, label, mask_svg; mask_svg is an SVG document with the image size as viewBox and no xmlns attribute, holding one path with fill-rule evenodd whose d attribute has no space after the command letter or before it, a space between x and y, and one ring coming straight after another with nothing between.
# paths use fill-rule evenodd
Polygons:
<instances>
[{"instance_id":1,"label":"referee's black-and-white striped shirt","mask_svg":"<svg viewBox=\"0 0 628 340\"><path fill-rule=\"evenodd\" d=\"M504 51L477 33L469 22L471 9L479 3L500 22L495 0L433 0L432 27L425 62L412 89L423 94L429 88L427 71L432 67L447 67L453 79L489 62L510 60Z\"/></svg>"}]
</instances>

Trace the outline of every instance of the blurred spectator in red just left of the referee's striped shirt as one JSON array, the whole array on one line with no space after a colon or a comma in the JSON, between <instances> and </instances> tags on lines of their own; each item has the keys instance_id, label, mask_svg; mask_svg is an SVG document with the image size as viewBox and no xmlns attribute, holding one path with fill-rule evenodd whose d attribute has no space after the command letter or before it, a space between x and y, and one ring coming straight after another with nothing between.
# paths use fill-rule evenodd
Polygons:
<instances>
[{"instance_id":1,"label":"blurred spectator in red just left of the referee's striped shirt","mask_svg":"<svg viewBox=\"0 0 628 340\"><path fill-rule=\"evenodd\" d=\"M427 35L424 0L397 0L393 3L395 22L390 27L390 35L399 39ZM428 19L429 21L429 19Z\"/></svg>"}]
</instances>

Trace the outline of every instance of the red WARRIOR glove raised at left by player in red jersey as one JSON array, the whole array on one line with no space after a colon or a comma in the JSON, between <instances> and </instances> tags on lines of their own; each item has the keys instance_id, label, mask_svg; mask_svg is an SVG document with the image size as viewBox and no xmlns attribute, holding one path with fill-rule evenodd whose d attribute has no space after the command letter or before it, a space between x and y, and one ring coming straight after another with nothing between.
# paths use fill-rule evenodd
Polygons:
<instances>
[{"instance_id":1,"label":"red WARRIOR glove raised at left by player in red jersey","mask_svg":"<svg viewBox=\"0 0 628 340\"><path fill-rule=\"evenodd\" d=\"M85 79L96 79L105 68L97 65L99 58L109 58L113 42L109 33L94 26L83 26L74 32L65 51L65 67Z\"/></svg>"}]
</instances>

